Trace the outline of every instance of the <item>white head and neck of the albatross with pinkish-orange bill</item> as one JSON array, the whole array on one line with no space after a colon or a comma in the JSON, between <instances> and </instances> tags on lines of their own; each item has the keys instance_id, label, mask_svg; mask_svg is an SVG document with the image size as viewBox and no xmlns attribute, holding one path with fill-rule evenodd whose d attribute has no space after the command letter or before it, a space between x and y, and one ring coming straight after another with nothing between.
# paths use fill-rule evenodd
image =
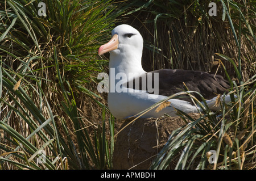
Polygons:
<instances>
[{"instance_id":1,"label":"white head and neck of the albatross with pinkish-orange bill","mask_svg":"<svg viewBox=\"0 0 256 181\"><path fill-rule=\"evenodd\" d=\"M122 24L112 30L112 39L98 49L98 54L110 52L109 71L114 74L138 73L145 71L141 65L143 39L135 28Z\"/></svg>"}]
</instances>

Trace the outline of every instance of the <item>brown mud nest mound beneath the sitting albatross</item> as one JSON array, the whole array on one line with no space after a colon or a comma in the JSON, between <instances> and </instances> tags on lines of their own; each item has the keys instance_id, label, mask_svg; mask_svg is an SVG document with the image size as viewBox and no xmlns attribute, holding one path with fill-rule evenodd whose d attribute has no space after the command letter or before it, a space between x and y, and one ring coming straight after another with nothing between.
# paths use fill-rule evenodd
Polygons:
<instances>
[{"instance_id":1,"label":"brown mud nest mound beneath the sitting albatross","mask_svg":"<svg viewBox=\"0 0 256 181\"><path fill-rule=\"evenodd\" d=\"M200 117L197 113L191 113L189 116L193 119ZM120 129L132 120L125 120ZM149 169L172 131L185 124L180 117L135 120L117 136L113 153L113 169Z\"/></svg>"}]
</instances>

